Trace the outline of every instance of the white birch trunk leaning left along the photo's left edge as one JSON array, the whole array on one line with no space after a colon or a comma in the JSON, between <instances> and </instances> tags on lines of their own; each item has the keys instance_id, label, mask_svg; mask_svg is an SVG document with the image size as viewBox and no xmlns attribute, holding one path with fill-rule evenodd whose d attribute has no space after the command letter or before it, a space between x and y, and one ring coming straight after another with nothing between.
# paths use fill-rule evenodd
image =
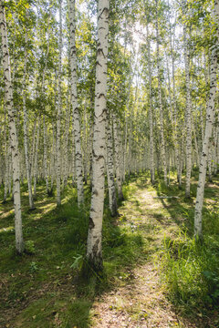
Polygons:
<instances>
[{"instance_id":1,"label":"white birch trunk leaning left along the photo's left edge","mask_svg":"<svg viewBox=\"0 0 219 328\"><path fill-rule=\"evenodd\" d=\"M7 45L7 28L5 20L5 7L3 1L0 0L0 26L2 35L2 52L3 52L3 68L5 76L5 105L7 108L8 127L10 133L10 149L12 154L12 173L13 173L13 195L15 206L15 228L16 228L16 251L21 254L25 245L22 231L21 218L21 199L20 199L20 169L19 169L19 152L18 140L16 135L16 112L13 104L13 89L11 81L10 56Z\"/></svg>"}]
</instances>

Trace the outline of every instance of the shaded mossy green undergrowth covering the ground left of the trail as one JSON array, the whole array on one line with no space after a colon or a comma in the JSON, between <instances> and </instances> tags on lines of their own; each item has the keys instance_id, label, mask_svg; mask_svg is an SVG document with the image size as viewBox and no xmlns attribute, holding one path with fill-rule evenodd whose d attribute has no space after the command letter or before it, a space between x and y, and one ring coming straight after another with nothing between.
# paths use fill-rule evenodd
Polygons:
<instances>
[{"instance_id":1,"label":"shaded mossy green undergrowth covering the ground left of the trail","mask_svg":"<svg viewBox=\"0 0 219 328\"><path fill-rule=\"evenodd\" d=\"M139 231L110 217L106 200L103 222L104 275L80 282L78 273L86 253L90 189L85 206L78 209L71 185L63 192L62 205L47 197L45 185L37 186L36 210L28 210L22 187L23 231L26 253L16 256L13 203L0 205L0 326L89 327L91 306L97 294L130 279L128 269L141 260L144 243ZM124 185L127 200L134 188ZM3 192L1 190L1 192ZM6 230L6 228L10 228ZM97 287L98 286L98 287Z\"/></svg>"}]
</instances>

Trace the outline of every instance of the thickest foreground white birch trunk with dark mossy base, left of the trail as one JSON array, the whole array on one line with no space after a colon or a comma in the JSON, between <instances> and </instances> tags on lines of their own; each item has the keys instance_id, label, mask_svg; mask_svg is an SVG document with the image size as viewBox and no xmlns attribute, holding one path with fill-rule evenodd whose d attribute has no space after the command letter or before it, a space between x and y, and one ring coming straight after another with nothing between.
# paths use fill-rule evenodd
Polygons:
<instances>
[{"instance_id":1,"label":"thickest foreground white birch trunk with dark mossy base, left of the trail","mask_svg":"<svg viewBox=\"0 0 219 328\"><path fill-rule=\"evenodd\" d=\"M89 213L87 261L95 271L102 270L102 219L105 182L105 123L107 110L107 60L109 33L109 0L99 0L98 51L95 86L93 134L93 177Z\"/></svg>"}]
</instances>

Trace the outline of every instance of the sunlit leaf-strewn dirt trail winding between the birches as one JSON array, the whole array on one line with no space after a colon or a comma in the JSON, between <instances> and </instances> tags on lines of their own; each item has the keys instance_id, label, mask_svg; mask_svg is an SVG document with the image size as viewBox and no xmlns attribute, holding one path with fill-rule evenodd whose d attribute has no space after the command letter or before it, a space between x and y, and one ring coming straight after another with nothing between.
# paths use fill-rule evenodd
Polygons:
<instances>
[{"instance_id":1,"label":"sunlit leaf-strewn dirt trail winding between the birches","mask_svg":"<svg viewBox=\"0 0 219 328\"><path fill-rule=\"evenodd\" d=\"M174 233L178 227L172 218L162 217L162 201L154 196L155 190L141 187L120 208L120 214L127 219L121 224L131 224L141 230L144 242L149 244L149 256L141 266L136 265L131 281L122 282L120 288L102 295L93 304L94 327L196 326L174 313L163 292L156 256L161 251L164 236Z\"/></svg>"}]
</instances>

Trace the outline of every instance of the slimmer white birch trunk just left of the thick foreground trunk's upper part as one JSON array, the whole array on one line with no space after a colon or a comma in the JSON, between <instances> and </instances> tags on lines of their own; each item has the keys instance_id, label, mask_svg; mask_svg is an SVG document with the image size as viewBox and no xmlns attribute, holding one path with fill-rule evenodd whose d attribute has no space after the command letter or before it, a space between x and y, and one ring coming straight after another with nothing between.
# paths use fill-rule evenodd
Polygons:
<instances>
[{"instance_id":1,"label":"slimmer white birch trunk just left of the thick foreground trunk's upper part","mask_svg":"<svg viewBox=\"0 0 219 328\"><path fill-rule=\"evenodd\" d=\"M69 0L69 21L70 21L70 70L71 70L71 100L74 118L75 132L75 163L78 189L78 205L84 202L83 187L83 158L80 144L80 118L78 108L78 90L77 90L77 56L76 56L76 19L75 19L75 0Z\"/></svg>"}]
</instances>

